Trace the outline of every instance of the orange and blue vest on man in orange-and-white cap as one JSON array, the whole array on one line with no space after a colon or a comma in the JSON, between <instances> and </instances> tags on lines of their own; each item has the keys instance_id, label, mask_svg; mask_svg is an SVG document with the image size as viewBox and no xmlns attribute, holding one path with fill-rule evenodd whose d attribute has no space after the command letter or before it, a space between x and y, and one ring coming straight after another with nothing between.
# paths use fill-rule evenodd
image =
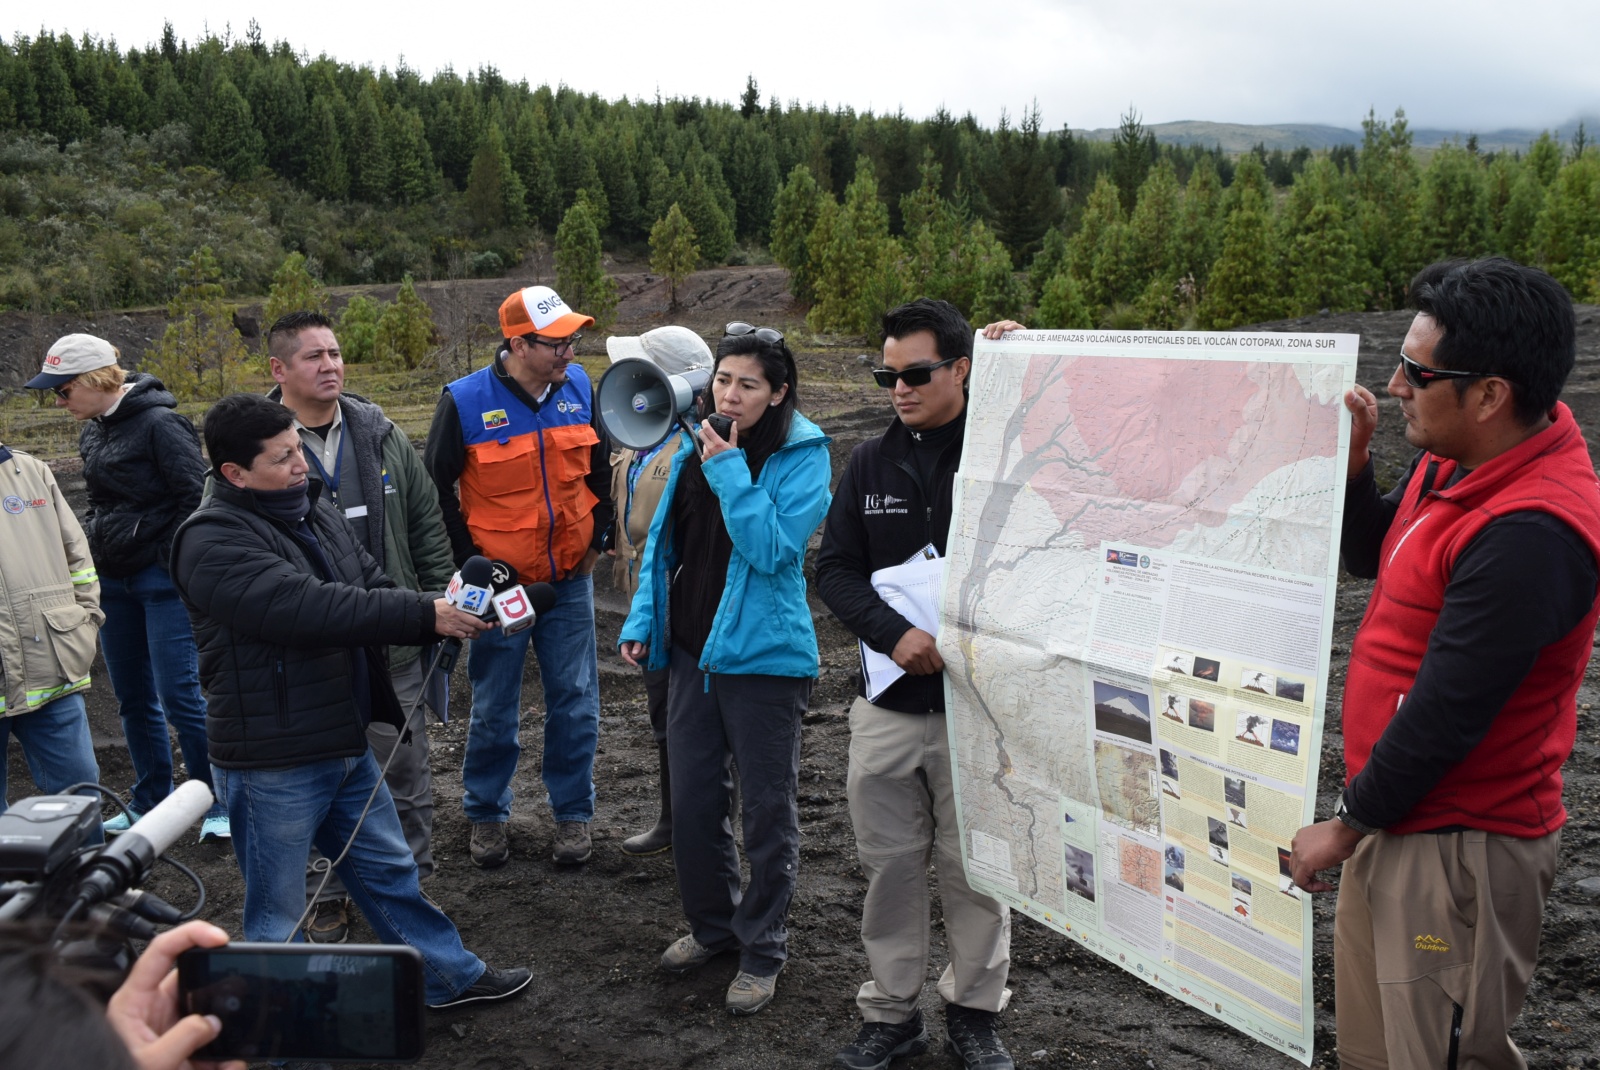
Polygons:
<instances>
[{"instance_id":1,"label":"orange and blue vest on man in orange-and-white cap","mask_svg":"<svg viewBox=\"0 0 1600 1070\"><path fill-rule=\"evenodd\" d=\"M565 579L594 541L600 499L584 478L600 441L594 392L576 363L566 374L538 411L494 376L493 365L446 387L467 454L461 513L472 542L485 557L512 565L523 584Z\"/></svg>"}]
</instances>

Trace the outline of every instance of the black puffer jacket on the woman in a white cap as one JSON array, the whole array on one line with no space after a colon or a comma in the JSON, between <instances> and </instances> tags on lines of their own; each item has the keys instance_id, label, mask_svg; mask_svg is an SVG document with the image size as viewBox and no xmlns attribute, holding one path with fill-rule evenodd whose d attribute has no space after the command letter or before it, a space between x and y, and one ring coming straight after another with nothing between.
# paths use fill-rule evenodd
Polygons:
<instances>
[{"instance_id":1,"label":"black puffer jacket on the woman in a white cap","mask_svg":"<svg viewBox=\"0 0 1600 1070\"><path fill-rule=\"evenodd\" d=\"M173 533L200 504L200 435L155 376L134 371L117 411L83 422L78 454L90 509L83 531L107 579L166 565Z\"/></svg>"}]
</instances>

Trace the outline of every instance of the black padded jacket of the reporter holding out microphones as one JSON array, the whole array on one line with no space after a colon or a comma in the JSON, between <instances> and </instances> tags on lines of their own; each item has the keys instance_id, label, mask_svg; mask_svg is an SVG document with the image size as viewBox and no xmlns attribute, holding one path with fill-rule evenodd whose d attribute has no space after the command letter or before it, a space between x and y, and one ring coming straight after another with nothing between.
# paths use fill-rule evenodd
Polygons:
<instances>
[{"instance_id":1,"label":"black padded jacket of the reporter holding out microphones","mask_svg":"<svg viewBox=\"0 0 1600 1070\"><path fill-rule=\"evenodd\" d=\"M307 523L333 582L283 521L222 480L173 541L173 582L200 648L211 761L222 768L363 753L366 713L402 725L382 648L434 635L432 600L395 587L318 491L312 483ZM365 688L355 681L355 648L366 654Z\"/></svg>"}]
</instances>

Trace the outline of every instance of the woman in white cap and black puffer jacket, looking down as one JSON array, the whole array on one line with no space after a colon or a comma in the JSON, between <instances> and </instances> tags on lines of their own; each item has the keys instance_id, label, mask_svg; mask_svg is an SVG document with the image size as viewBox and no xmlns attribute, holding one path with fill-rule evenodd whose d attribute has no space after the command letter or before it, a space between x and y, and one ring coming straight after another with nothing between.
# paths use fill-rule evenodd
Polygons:
<instances>
[{"instance_id":1,"label":"woman in white cap and black puffer jacket, looking down","mask_svg":"<svg viewBox=\"0 0 1600 1070\"><path fill-rule=\"evenodd\" d=\"M147 814L173 790L168 723L189 776L211 785L194 632L166 574L173 534L200 505L206 465L194 424L178 413L162 381L125 374L109 342L80 339L83 347L99 342L107 363L51 389L56 405L83 422L78 453L90 491L83 529L106 611L101 648L133 758L131 808ZM122 814L106 822L107 832L126 825ZM227 816L216 804L200 840L227 835Z\"/></svg>"}]
</instances>

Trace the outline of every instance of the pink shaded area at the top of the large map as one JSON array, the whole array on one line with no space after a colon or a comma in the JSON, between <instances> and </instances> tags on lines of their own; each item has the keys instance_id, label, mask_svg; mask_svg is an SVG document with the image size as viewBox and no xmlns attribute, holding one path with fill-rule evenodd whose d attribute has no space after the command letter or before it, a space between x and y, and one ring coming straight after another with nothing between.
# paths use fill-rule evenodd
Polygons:
<instances>
[{"instance_id":1,"label":"pink shaded area at the top of the large map","mask_svg":"<svg viewBox=\"0 0 1600 1070\"><path fill-rule=\"evenodd\" d=\"M1034 357L1022 398L1027 481L1090 545L1168 545L1339 443L1338 400L1282 363Z\"/></svg>"}]
</instances>

